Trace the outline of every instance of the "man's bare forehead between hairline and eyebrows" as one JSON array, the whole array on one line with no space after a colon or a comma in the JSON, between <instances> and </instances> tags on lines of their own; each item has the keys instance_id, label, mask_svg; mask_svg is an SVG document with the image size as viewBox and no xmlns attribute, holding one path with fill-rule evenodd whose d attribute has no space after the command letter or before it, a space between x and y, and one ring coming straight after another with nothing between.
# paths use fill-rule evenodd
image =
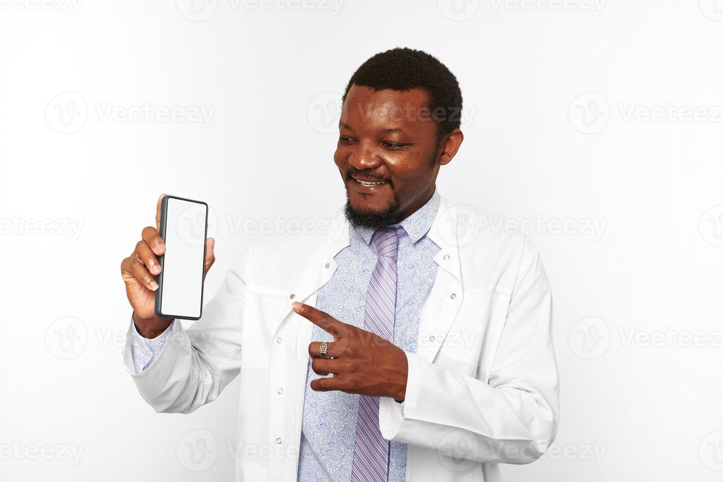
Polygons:
<instances>
[{"instance_id":1,"label":"man's bare forehead between hairline and eyebrows","mask_svg":"<svg viewBox=\"0 0 723 482\"><path fill-rule=\"evenodd\" d=\"M436 129L423 89L374 90L352 85L341 109L341 124L357 131L401 129L426 132Z\"/></svg>"}]
</instances>

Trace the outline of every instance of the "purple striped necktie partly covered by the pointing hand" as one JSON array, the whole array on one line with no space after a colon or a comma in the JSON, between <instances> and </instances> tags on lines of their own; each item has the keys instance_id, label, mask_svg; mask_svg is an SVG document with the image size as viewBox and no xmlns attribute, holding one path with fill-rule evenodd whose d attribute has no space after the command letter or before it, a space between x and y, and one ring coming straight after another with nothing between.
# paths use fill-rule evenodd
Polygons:
<instances>
[{"instance_id":1,"label":"purple striped necktie partly covered by the pointing hand","mask_svg":"<svg viewBox=\"0 0 723 482\"><path fill-rule=\"evenodd\" d=\"M382 228L372 241L377 246L377 264L372 272L364 308L364 330L394 341L394 311L397 301L397 246L404 228ZM386 482L389 442L379 431L379 397L359 395L359 416L354 436L352 482Z\"/></svg>"}]
</instances>

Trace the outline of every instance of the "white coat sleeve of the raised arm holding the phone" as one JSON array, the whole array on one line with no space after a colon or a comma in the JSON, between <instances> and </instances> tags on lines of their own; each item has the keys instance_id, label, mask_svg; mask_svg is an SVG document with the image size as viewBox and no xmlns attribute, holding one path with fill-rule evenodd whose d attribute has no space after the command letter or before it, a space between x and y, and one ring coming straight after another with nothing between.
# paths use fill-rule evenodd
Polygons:
<instances>
[{"instance_id":1,"label":"white coat sleeve of the raised arm holding the phone","mask_svg":"<svg viewBox=\"0 0 723 482\"><path fill-rule=\"evenodd\" d=\"M245 270L253 246L226 273L221 288L203 314L184 329L176 320L158 358L136 374L131 354L133 326L123 360L143 399L156 412L190 413L215 400L239 374L241 314L246 296Z\"/></svg>"}]
</instances>

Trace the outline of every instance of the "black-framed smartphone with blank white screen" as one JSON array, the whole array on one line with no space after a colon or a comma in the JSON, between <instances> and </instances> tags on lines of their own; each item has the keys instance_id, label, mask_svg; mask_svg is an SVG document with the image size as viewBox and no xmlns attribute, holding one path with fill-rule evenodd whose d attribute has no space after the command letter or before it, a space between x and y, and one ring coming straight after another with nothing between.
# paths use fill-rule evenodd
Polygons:
<instances>
[{"instance_id":1,"label":"black-framed smartphone with blank white screen","mask_svg":"<svg viewBox=\"0 0 723 482\"><path fill-rule=\"evenodd\" d=\"M158 233L166 244L166 252L158 257L161 274L155 277L158 283L155 316L199 319L203 305L208 205L183 197L163 197Z\"/></svg>"}]
</instances>

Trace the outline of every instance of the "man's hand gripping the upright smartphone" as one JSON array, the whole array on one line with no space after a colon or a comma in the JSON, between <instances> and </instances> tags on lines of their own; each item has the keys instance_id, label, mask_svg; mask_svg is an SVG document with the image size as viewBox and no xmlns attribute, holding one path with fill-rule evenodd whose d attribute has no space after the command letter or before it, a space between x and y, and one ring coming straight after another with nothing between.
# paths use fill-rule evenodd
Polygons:
<instances>
[{"instance_id":1,"label":"man's hand gripping the upright smartphone","mask_svg":"<svg viewBox=\"0 0 723 482\"><path fill-rule=\"evenodd\" d=\"M158 231L161 227L164 197L166 194L158 197L155 228L143 228L141 240L137 242L131 255L121 262L121 277L126 286L126 296L133 308L133 319L140 334L146 338L160 335L168 324L171 324L171 318L155 314L155 291L158 290L155 277L163 271L158 257L166 252L166 244ZM213 246L213 238L208 238L205 243L204 274L215 261Z\"/></svg>"}]
</instances>

